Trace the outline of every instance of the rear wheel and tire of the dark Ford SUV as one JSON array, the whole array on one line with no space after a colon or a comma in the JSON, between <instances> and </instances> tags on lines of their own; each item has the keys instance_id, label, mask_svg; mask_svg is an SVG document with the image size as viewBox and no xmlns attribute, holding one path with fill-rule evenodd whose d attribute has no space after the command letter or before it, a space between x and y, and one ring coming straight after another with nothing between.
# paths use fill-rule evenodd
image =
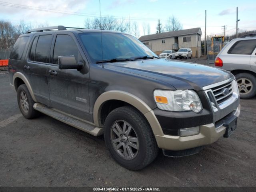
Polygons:
<instances>
[{"instance_id":1,"label":"rear wheel and tire of the dark Ford SUV","mask_svg":"<svg viewBox=\"0 0 256 192\"><path fill-rule=\"evenodd\" d=\"M18 87L17 100L20 108L20 112L27 119L32 119L38 116L39 112L34 110L34 100L32 99L28 88L25 84Z\"/></svg>"}]
</instances>

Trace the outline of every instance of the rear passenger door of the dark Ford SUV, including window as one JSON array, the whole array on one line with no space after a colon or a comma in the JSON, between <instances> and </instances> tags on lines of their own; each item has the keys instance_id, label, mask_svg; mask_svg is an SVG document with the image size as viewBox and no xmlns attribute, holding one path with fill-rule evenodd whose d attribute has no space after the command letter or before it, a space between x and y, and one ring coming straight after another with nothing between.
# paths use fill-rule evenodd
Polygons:
<instances>
[{"instance_id":1,"label":"rear passenger door of the dark Ford SUV, including window","mask_svg":"<svg viewBox=\"0 0 256 192\"><path fill-rule=\"evenodd\" d=\"M52 34L35 35L24 71L29 74L29 80L38 102L49 106L49 90L47 83L47 66L49 64Z\"/></svg>"}]
</instances>

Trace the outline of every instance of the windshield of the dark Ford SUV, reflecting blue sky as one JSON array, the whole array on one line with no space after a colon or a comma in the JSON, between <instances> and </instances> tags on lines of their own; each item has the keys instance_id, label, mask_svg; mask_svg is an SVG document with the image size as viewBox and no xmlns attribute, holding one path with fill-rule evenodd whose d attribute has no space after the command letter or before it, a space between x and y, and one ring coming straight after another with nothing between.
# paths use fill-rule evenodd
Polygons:
<instances>
[{"instance_id":1,"label":"windshield of the dark Ford SUV, reflecting blue sky","mask_svg":"<svg viewBox=\"0 0 256 192\"><path fill-rule=\"evenodd\" d=\"M101 39L101 33L94 32L81 33L79 36L88 56L94 63L114 58L157 57L147 46L130 35L102 32Z\"/></svg>"}]
</instances>

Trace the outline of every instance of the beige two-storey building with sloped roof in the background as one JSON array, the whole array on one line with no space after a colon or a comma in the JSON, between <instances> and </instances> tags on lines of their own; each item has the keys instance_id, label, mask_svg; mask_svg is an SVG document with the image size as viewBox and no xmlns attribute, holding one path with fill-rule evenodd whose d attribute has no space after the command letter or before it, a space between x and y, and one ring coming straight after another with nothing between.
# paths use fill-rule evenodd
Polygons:
<instances>
[{"instance_id":1,"label":"beige two-storey building with sloped roof in the background","mask_svg":"<svg viewBox=\"0 0 256 192\"><path fill-rule=\"evenodd\" d=\"M184 29L141 36L139 40L154 53L160 54L164 50L191 48L193 57L201 56L201 28Z\"/></svg>"}]
</instances>

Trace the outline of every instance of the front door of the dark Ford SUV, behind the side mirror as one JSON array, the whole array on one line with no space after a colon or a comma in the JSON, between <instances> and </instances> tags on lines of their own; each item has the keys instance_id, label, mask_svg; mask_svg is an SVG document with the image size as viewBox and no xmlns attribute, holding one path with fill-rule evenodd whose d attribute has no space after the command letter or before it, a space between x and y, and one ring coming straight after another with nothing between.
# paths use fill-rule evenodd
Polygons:
<instances>
[{"instance_id":1,"label":"front door of the dark Ford SUV, behind the side mirror","mask_svg":"<svg viewBox=\"0 0 256 192\"><path fill-rule=\"evenodd\" d=\"M48 66L50 105L53 108L90 120L89 73L83 70L59 69L58 56L74 56L76 62L85 64L75 37L72 34L57 34L52 52L52 64Z\"/></svg>"}]
</instances>

